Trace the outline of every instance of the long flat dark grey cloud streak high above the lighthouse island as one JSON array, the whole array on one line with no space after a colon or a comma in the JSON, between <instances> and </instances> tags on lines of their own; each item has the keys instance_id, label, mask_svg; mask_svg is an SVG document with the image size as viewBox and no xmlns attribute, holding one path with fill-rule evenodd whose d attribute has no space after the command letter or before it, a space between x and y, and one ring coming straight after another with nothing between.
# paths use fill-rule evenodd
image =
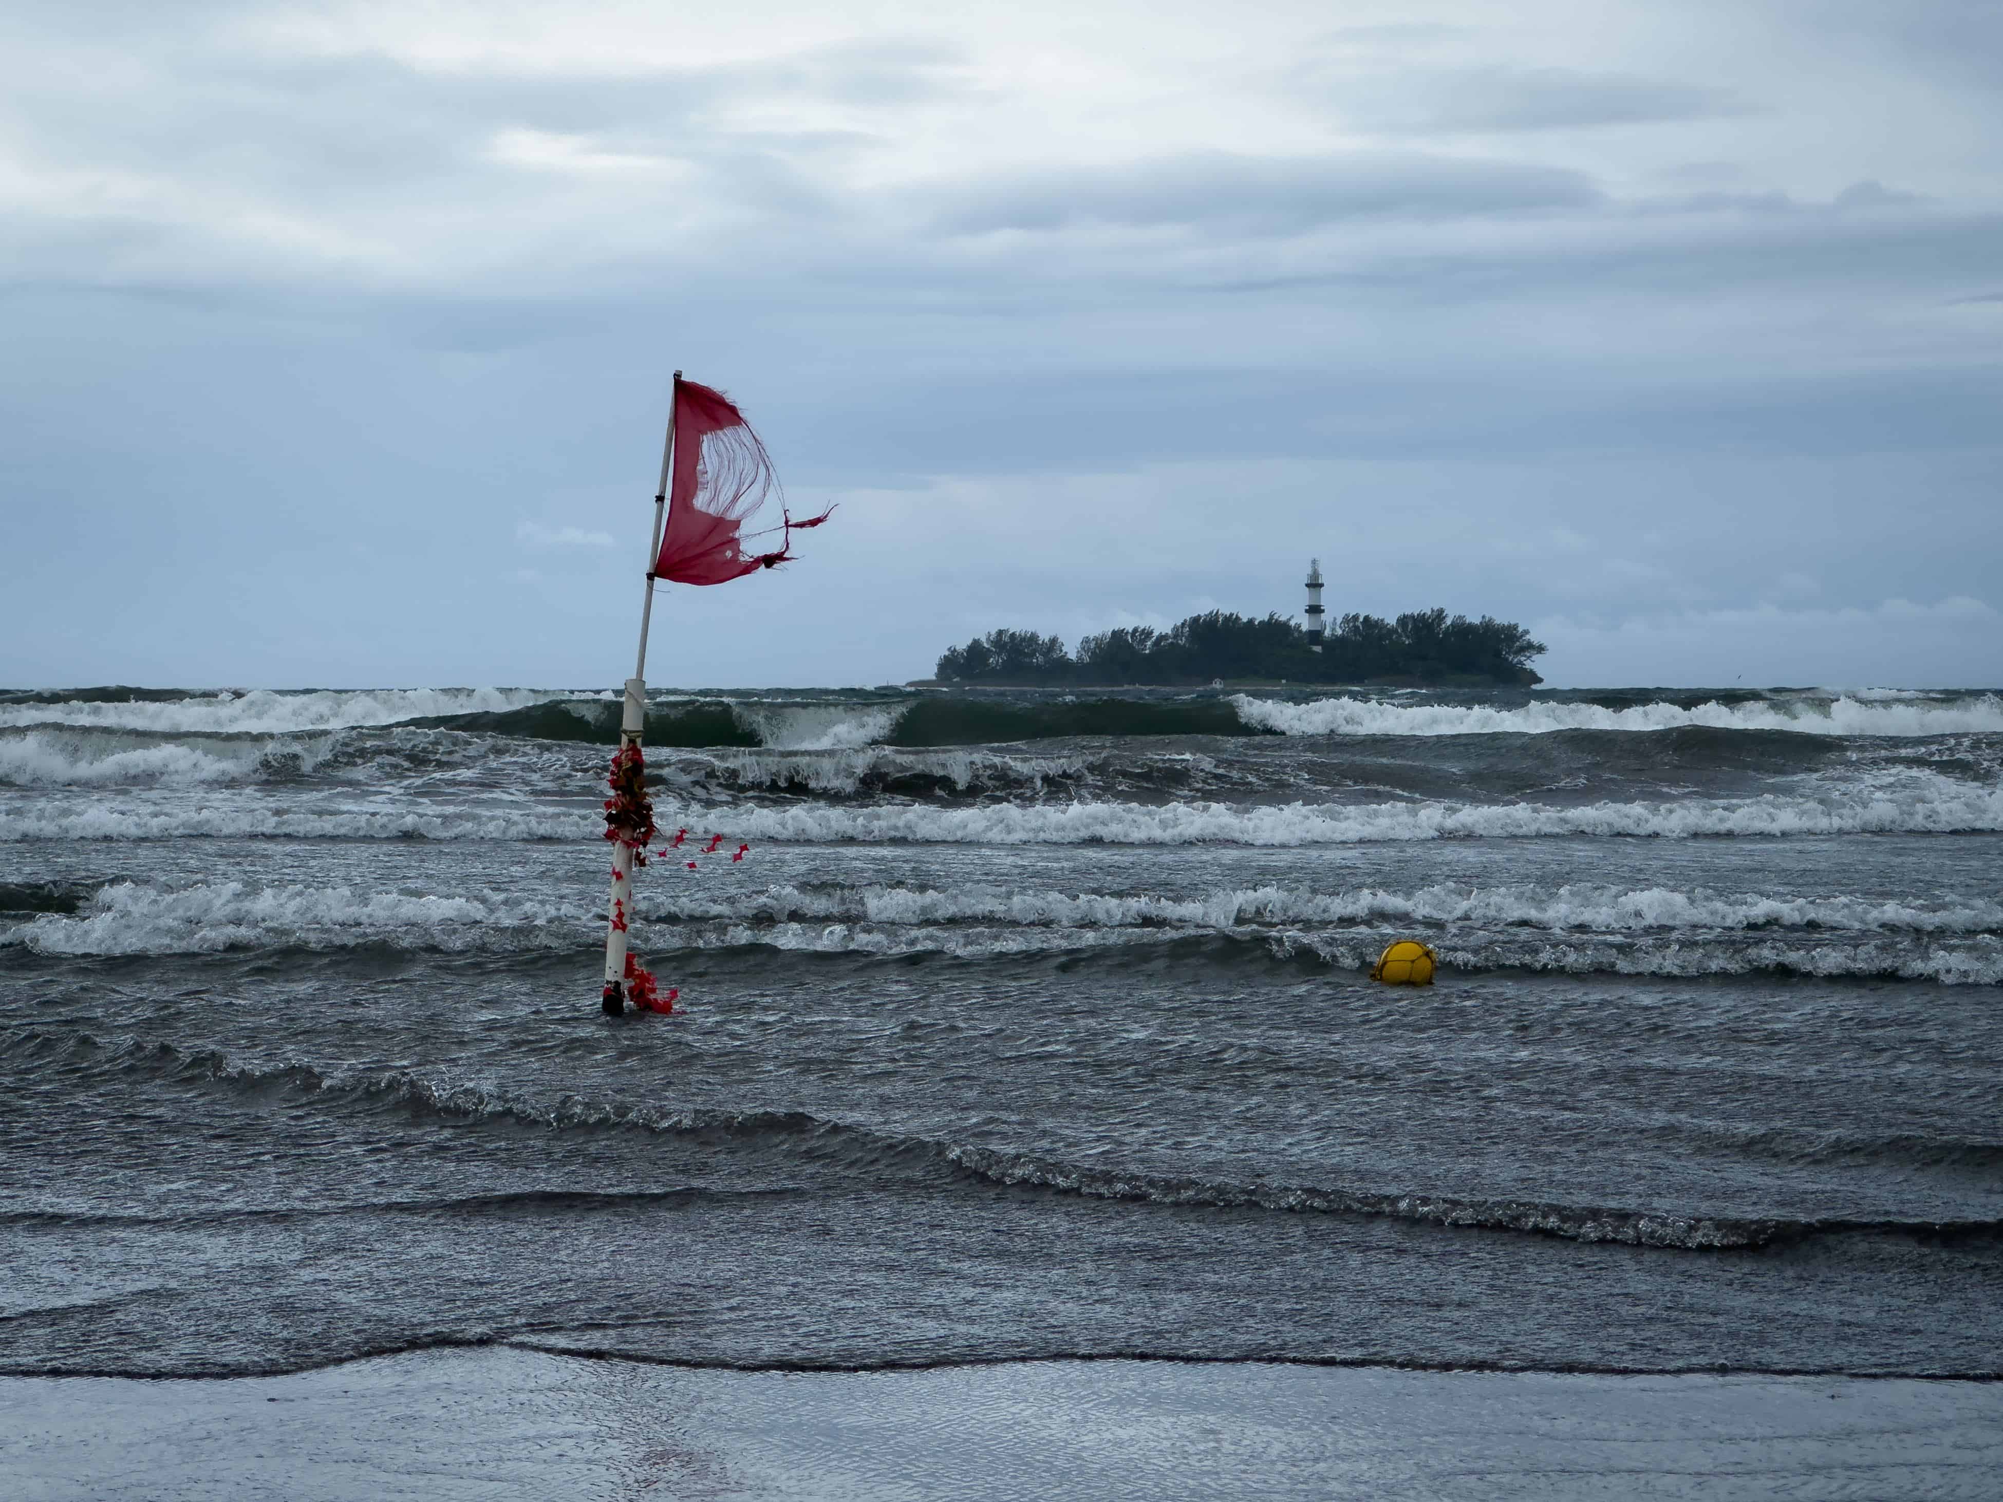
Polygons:
<instances>
[{"instance_id":1,"label":"long flat dark grey cloud streak high above the lighthouse island","mask_svg":"<svg viewBox=\"0 0 2003 1502\"><path fill-rule=\"evenodd\" d=\"M1074 224L1290 234L1350 218L1472 218L1600 200L1582 172L1530 162L1344 152L1260 158L1186 152L1148 162L989 178L941 194L951 234Z\"/></svg>"}]
</instances>

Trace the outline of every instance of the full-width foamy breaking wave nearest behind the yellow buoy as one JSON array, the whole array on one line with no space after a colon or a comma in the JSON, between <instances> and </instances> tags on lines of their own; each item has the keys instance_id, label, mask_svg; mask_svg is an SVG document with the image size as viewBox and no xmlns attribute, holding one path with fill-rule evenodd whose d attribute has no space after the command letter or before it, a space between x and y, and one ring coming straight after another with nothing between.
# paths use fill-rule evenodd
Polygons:
<instances>
[{"instance_id":1,"label":"full-width foamy breaking wave nearest behind the yellow buoy","mask_svg":"<svg viewBox=\"0 0 2003 1502\"><path fill-rule=\"evenodd\" d=\"M36 891L36 915L0 945L48 955L216 953L224 949L583 949L603 913L495 891L367 893L351 887L178 889L116 883ZM58 901L60 895L60 901ZM643 893L635 935L651 951L779 949L829 955L947 953L997 959L1052 951L1214 941L1222 963L1310 957L1364 969L1386 935L1428 937L1462 973L1496 969L1618 975L1899 975L2003 981L2003 905L1897 903L1614 887L1282 887L1164 897L1006 887L793 887L703 897Z\"/></svg>"}]
</instances>

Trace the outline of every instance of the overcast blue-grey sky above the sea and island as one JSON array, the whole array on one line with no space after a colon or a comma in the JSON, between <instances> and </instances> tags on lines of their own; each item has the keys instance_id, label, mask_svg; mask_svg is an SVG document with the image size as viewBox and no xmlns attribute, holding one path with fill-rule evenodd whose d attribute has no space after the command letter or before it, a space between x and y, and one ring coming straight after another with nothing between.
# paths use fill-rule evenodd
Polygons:
<instances>
[{"instance_id":1,"label":"overcast blue-grey sky above the sea and island","mask_svg":"<svg viewBox=\"0 0 2003 1502\"><path fill-rule=\"evenodd\" d=\"M0 685L657 685L1222 607L2003 685L2003 6L0 12Z\"/></svg>"}]
</instances>

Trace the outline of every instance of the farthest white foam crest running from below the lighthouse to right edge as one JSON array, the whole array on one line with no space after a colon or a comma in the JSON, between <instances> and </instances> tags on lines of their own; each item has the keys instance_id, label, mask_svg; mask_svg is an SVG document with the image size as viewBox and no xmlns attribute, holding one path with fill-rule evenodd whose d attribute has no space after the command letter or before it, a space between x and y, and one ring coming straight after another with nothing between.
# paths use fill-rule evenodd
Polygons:
<instances>
[{"instance_id":1,"label":"farthest white foam crest running from below the lighthouse to right edge","mask_svg":"<svg viewBox=\"0 0 2003 1502\"><path fill-rule=\"evenodd\" d=\"M1677 731L1693 725L1725 731L1797 731L1809 735L1955 735L2003 733L2003 697L1993 693L1959 703L1909 699L1793 699L1787 703L1602 705L1534 703L1518 709L1486 705L1386 705L1372 699L1314 699L1304 705L1232 695L1238 717L1282 735L1542 735L1548 731Z\"/></svg>"}]
</instances>

